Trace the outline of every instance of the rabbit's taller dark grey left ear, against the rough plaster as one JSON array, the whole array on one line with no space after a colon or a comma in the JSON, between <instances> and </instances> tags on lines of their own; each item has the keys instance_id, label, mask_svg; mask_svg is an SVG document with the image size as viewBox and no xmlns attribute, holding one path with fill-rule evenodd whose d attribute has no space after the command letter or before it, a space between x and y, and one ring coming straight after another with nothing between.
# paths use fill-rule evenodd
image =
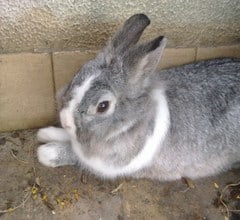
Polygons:
<instances>
[{"instance_id":1,"label":"rabbit's taller dark grey left ear, against the rough plaster","mask_svg":"<svg viewBox=\"0 0 240 220\"><path fill-rule=\"evenodd\" d=\"M130 46L136 44L144 29L150 24L149 18L144 14L135 14L123 25L110 42L116 53L122 54Z\"/></svg>"}]
</instances>

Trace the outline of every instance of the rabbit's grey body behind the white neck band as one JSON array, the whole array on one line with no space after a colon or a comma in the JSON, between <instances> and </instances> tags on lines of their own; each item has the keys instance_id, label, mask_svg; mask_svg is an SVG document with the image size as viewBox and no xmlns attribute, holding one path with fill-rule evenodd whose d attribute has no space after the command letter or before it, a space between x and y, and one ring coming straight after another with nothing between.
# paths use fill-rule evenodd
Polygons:
<instances>
[{"instance_id":1,"label":"rabbit's grey body behind the white neck band","mask_svg":"<svg viewBox=\"0 0 240 220\"><path fill-rule=\"evenodd\" d=\"M166 83L170 127L150 176L197 178L239 162L239 60L202 61L157 78Z\"/></svg>"}]
</instances>

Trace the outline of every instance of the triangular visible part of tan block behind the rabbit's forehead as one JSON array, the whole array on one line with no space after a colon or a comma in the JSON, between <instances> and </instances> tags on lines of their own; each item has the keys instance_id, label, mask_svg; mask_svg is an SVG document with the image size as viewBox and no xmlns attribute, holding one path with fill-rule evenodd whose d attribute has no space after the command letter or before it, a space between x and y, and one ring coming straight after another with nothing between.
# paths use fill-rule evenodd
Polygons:
<instances>
[{"instance_id":1,"label":"triangular visible part of tan block behind the rabbit's forehead","mask_svg":"<svg viewBox=\"0 0 240 220\"><path fill-rule=\"evenodd\" d=\"M81 66L88 60L94 58L95 55L95 51L68 51L53 53L53 69L56 90L70 82L73 75L81 68Z\"/></svg>"}]
</instances>

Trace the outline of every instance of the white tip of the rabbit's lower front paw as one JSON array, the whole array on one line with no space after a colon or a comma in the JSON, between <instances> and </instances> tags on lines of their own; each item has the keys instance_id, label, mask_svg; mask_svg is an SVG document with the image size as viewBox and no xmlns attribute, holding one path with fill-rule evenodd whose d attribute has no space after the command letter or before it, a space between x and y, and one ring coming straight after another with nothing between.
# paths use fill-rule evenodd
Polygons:
<instances>
[{"instance_id":1,"label":"white tip of the rabbit's lower front paw","mask_svg":"<svg viewBox=\"0 0 240 220\"><path fill-rule=\"evenodd\" d=\"M59 148L54 144L44 144L37 149L38 161L48 167L57 167Z\"/></svg>"}]
</instances>

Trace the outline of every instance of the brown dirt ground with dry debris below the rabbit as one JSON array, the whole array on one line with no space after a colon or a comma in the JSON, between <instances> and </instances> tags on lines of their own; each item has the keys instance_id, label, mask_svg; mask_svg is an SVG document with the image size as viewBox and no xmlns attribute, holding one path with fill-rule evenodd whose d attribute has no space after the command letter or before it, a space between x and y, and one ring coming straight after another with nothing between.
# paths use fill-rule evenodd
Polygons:
<instances>
[{"instance_id":1,"label":"brown dirt ground with dry debris below the rabbit","mask_svg":"<svg viewBox=\"0 0 240 220\"><path fill-rule=\"evenodd\" d=\"M240 219L240 170L197 181L102 180L39 164L35 134L0 134L1 220Z\"/></svg>"}]
</instances>

